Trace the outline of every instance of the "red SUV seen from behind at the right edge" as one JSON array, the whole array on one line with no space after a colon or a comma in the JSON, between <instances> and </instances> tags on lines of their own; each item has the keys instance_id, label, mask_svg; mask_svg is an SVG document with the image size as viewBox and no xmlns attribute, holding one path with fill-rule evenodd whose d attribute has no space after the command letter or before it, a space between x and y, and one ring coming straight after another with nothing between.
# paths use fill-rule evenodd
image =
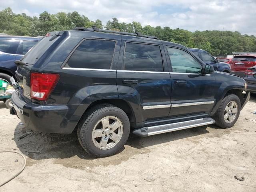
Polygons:
<instances>
[{"instance_id":1,"label":"red SUV seen from behind at the right edge","mask_svg":"<svg viewBox=\"0 0 256 192\"><path fill-rule=\"evenodd\" d=\"M256 54L240 54L234 56L229 62L231 73L244 77L244 72L256 65Z\"/></svg>"}]
</instances>

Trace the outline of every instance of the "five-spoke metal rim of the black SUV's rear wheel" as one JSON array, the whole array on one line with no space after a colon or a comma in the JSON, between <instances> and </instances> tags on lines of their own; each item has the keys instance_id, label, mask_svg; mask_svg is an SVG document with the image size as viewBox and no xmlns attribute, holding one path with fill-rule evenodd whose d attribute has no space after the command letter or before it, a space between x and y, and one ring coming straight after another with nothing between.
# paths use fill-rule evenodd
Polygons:
<instances>
[{"instance_id":1,"label":"five-spoke metal rim of the black SUV's rear wheel","mask_svg":"<svg viewBox=\"0 0 256 192\"><path fill-rule=\"evenodd\" d=\"M94 126L92 141L100 149L110 149L120 141L123 130L123 124L120 119L114 116L106 116Z\"/></svg>"}]
</instances>

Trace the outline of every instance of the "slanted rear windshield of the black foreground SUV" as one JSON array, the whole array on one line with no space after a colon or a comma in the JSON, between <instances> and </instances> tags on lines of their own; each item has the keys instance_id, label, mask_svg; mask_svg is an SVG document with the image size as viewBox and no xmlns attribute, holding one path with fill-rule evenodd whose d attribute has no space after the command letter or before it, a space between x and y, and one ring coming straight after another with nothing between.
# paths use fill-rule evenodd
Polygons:
<instances>
[{"instance_id":1,"label":"slanted rear windshield of the black foreground SUV","mask_svg":"<svg viewBox=\"0 0 256 192\"><path fill-rule=\"evenodd\" d=\"M22 61L27 64L34 65L38 58L40 58L44 52L59 38L55 38L50 41L52 36L42 38L29 52L24 55Z\"/></svg>"}]
</instances>

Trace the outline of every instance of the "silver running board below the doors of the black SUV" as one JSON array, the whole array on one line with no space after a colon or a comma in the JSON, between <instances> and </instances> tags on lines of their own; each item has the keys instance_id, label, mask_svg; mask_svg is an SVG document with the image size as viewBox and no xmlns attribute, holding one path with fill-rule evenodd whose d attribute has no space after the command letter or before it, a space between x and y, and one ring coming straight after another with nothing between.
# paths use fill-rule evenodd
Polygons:
<instances>
[{"instance_id":1,"label":"silver running board below the doors of the black SUV","mask_svg":"<svg viewBox=\"0 0 256 192\"><path fill-rule=\"evenodd\" d=\"M177 123L143 127L140 129L135 129L133 131L133 134L141 136L141 137L147 137L150 135L156 135L156 134L167 133L167 132L171 132L171 131L188 129L188 128L192 128L192 127L210 125L210 124L214 124L214 123L215 123L215 121L212 118L207 117L207 118L194 119L194 120L177 122Z\"/></svg>"}]
</instances>

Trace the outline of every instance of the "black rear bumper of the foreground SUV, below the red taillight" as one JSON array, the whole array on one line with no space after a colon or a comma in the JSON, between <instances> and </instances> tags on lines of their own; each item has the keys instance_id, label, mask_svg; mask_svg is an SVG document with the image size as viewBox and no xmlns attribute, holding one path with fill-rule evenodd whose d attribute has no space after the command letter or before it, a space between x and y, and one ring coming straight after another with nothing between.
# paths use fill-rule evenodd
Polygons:
<instances>
[{"instance_id":1,"label":"black rear bumper of the foreground SUV, below the red taillight","mask_svg":"<svg viewBox=\"0 0 256 192\"><path fill-rule=\"evenodd\" d=\"M78 105L39 105L24 99L19 90L12 94L14 111L27 129L49 133L72 133L81 116Z\"/></svg>"}]
</instances>

